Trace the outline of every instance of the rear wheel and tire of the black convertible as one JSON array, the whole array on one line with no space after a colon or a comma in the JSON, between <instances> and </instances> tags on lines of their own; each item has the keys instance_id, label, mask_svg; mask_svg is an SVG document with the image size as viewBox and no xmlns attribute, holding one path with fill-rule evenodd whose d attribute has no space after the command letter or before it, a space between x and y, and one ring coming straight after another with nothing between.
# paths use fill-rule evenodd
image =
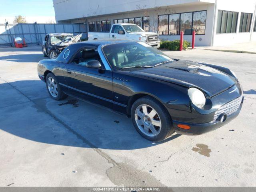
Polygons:
<instances>
[{"instance_id":1,"label":"rear wheel and tire of the black convertible","mask_svg":"<svg viewBox=\"0 0 256 192\"><path fill-rule=\"evenodd\" d=\"M52 73L48 73L46 76L46 90L54 100L58 101L67 97L67 95L62 92L56 77Z\"/></svg>"}]
</instances>

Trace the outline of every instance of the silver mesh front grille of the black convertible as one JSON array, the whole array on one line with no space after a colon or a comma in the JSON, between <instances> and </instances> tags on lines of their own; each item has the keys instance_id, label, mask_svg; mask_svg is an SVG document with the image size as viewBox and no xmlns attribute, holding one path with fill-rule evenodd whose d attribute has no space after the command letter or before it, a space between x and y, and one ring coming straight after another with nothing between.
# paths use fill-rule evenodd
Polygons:
<instances>
[{"instance_id":1,"label":"silver mesh front grille of the black convertible","mask_svg":"<svg viewBox=\"0 0 256 192\"><path fill-rule=\"evenodd\" d=\"M218 118L218 116L220 116L220 114L226 114L227 116L233 114L234 112L236 112L242 102L242 98L243 96L240 96L230 102L228 102L227 104L224 104L223 106L221 106L214 114L214 119L213 121L216 121L216 119Z\"/></svg>"}]
</instances>

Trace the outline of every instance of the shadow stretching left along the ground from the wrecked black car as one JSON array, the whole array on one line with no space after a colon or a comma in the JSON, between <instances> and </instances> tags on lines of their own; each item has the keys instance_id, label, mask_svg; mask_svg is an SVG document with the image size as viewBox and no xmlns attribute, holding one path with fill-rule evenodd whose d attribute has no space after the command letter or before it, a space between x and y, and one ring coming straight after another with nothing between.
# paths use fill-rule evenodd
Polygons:
<instances>
[{"instance_id":1,"label":"shadow stretching left along the ground from the wrecked black car","mask_svg":"<svg viewBox=\"0 0 256 192\"><path fill-rule=\"evenodd\" d=\"M15 54L15 55L0 56L0 60L19 62L19 63L39 62L42 59L49 59L49 58L43 57L42 54Z\"/></svg>"}]
</instances>

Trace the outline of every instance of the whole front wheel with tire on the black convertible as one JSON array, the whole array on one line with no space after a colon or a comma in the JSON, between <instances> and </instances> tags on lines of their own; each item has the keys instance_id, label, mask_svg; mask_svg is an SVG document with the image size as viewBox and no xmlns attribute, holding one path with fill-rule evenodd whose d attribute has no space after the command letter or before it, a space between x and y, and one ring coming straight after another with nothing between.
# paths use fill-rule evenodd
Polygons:
<instances>
[{"instance_id":1,"label":"whole front wheel with tire on the black convertible","mask_svg":"<svg viewBox=\"0 0 256 192\"><path fill-rule=\"evenodd\" d=\"M134 102L131 118L138 133L154 142L160 142L174 132L168 111L150 96L144 96Z\"/></svg>"}]
</instances>

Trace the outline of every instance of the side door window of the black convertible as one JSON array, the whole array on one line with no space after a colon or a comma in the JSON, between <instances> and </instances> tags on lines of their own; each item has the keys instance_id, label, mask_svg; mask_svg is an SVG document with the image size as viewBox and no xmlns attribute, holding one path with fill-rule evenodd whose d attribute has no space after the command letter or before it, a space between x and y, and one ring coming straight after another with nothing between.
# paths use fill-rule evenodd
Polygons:
<instances>
[{"instance_id":1,"label":"side door window of the black convertible","mask_svg":"<svg viewBox=\"0 0 256 192\"><path fill-rule=\"evenodd\" d=\"M86 66L86 63L92 60L98 60L102 64L97 49L84 48L76 54L71 63Z\"/></svg>"}]
</instances>

